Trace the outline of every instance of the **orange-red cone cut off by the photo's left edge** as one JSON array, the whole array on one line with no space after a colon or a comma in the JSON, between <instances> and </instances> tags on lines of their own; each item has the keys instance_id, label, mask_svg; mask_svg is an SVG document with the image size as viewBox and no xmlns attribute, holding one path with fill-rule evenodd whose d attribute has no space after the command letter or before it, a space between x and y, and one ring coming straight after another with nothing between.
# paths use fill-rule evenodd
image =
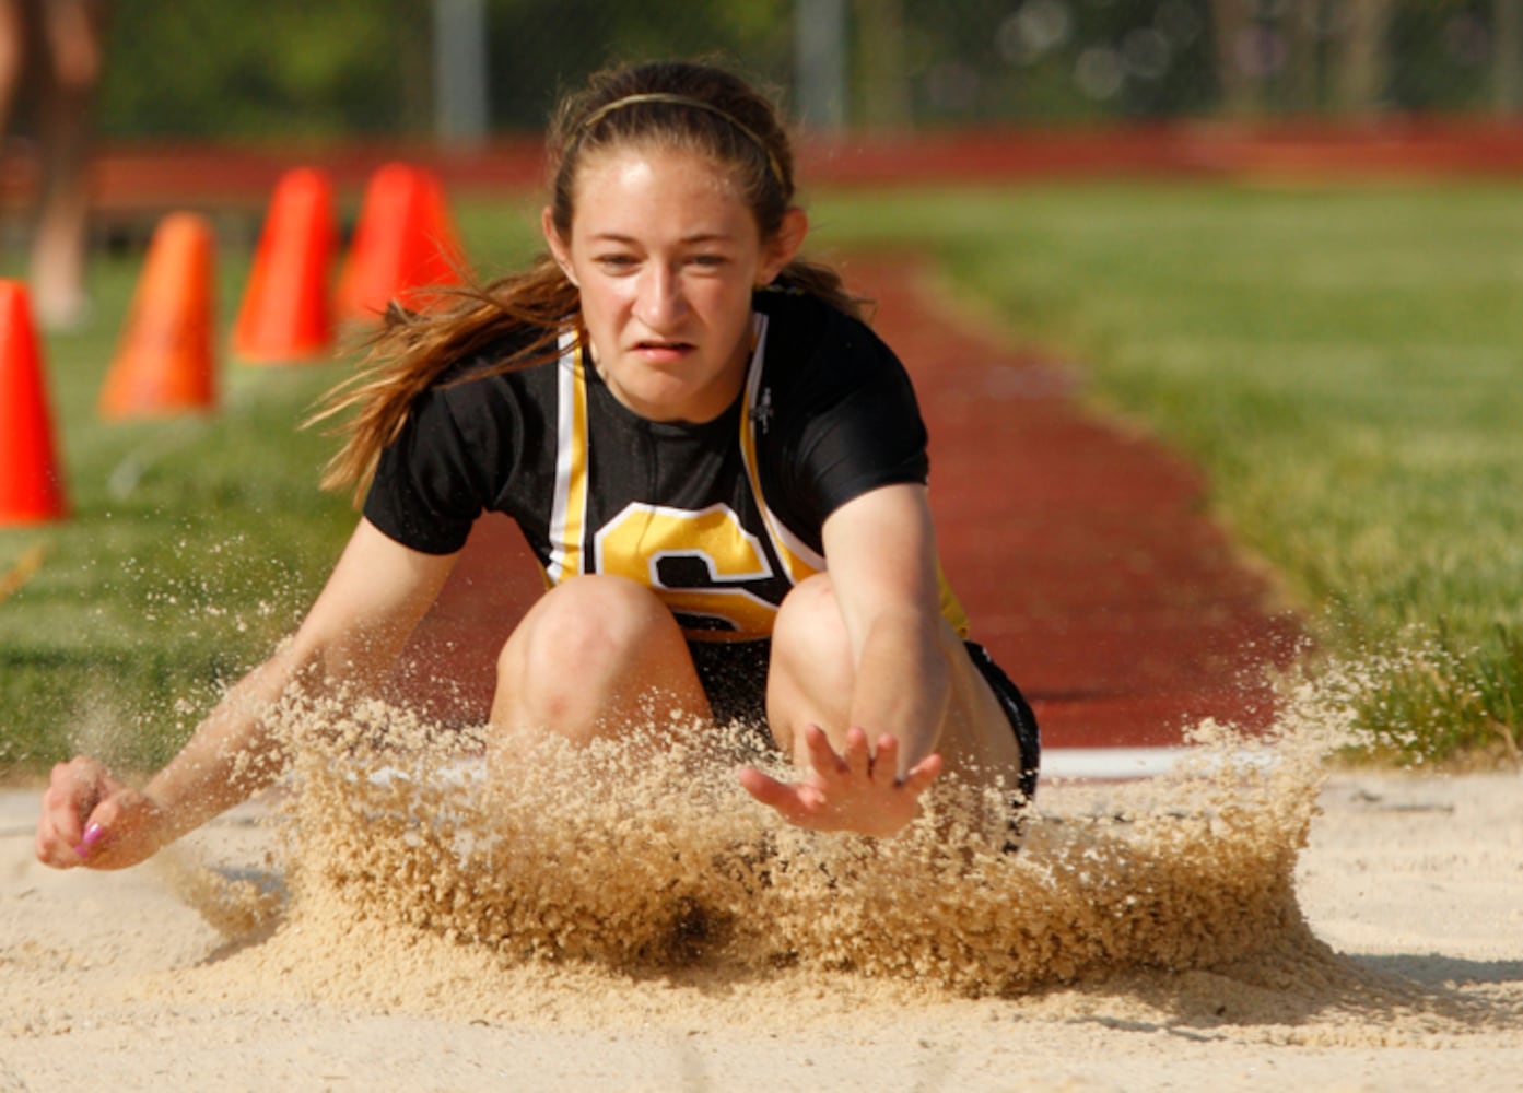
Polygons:
<instances>
[{"instance_id":1,"label":"orange-red cone cut off by the photo's left edge","mask_svg":"<svg viewBox=\"0 0 1523 1093\"><path fill-rule=\"evenodd\" d=\"M67 516L26 286L0 280L0 524Z\"/></svg>"}]
</instances>

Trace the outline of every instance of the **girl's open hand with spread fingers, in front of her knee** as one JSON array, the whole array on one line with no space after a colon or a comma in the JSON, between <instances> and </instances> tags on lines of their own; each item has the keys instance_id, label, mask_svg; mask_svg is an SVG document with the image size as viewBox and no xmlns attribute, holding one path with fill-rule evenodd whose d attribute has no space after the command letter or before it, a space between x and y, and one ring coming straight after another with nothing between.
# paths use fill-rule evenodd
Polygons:
<instances>
[{"instance_id":1,"label":"girl's open hand with spread fingers, in front of her knee","mask_svg":"<svg viewBox=\"0 0 1523 1093\"><path fill-rule=\"evenodd\" d=\"M781 782L755 767L743 767L740 784L789 824L812 831L856 831L876 837L899 834L920 814L920 795L941 773L941 757L928 755L899 778L899 741L885 734L877 754L868 750L867 732L847 729L838 755L818 725L804 729L813 772L797 782Z\"/></svg>"}]
</instances>

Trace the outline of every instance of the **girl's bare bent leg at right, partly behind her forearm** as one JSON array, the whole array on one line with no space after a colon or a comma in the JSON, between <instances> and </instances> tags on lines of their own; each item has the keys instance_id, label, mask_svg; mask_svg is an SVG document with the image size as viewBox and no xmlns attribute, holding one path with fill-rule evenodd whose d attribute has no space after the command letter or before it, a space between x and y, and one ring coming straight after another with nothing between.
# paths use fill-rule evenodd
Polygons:
<instances>
[{"instance_id":1,"label":"girl's bare bent leg at right, partly behind her forearm","mask_svg":"<svg viewBox=\"0 0 1523 1093\"><path fill-rule=\"evenodd\" d=\"M969 658L952 627L941 623L950 694L937 731L944 770L964 781L1016 785L1020 746L999 700ZM851 642L836 606L830 577L819 574L795 588L772 630L772 665L768 673L768 722L778 747L793 763L809 767L804 726L818 725L839 752L851 728L851 693L856 670ZM860 726L868 738L877 728Z\"/></svg>"}]
</instances>

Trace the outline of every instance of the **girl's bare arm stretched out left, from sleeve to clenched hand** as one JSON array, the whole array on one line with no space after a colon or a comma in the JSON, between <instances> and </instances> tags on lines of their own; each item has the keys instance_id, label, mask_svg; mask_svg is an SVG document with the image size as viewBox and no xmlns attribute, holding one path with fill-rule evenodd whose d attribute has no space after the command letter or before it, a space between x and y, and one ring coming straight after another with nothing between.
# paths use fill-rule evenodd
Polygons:
<instances>
[{"instance_id":1,"label":"girl's bare arm stretched out left, from sleeve to clenched hand","mask_svg":"<svg viewBox=\"0 0 1523 1093\"><path fill-rule=\"evenodd\" d=\"M455 556L402 546L361 521L295 636L239 680L142 790L81 757L53 769L37 856L47 865L134 865L279 773L265 711L297 682L372 687L443 588Z\"/></svg>"}]
</instances>

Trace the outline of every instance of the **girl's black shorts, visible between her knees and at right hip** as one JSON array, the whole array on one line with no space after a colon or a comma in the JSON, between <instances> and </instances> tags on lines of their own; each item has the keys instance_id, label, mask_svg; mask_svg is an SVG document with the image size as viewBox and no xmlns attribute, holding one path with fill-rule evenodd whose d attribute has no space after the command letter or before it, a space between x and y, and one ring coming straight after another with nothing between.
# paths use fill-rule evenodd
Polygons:
<instances>
[{"instance_id":1,"label":"girl's black shorts, visible between her knees and at right hip","mask_svg":"<svg viewBox=\"0 0 1523 1093\"><path fill-rule=\"evenodd\" d=\"M1030 801L1037 792L1042 766L1042 734L1030 703L1010 676L1001 670L988 650L976 641L963 642L973 667L988 682L1005 711L1010 729L1020 746L1020 796ZM720 725L740 725L766 735L766 671L772 658L772 642L762 641L690 641L693 667ZM768 740L771 737L768 735Z\"/></svg>"}]
</instances>

